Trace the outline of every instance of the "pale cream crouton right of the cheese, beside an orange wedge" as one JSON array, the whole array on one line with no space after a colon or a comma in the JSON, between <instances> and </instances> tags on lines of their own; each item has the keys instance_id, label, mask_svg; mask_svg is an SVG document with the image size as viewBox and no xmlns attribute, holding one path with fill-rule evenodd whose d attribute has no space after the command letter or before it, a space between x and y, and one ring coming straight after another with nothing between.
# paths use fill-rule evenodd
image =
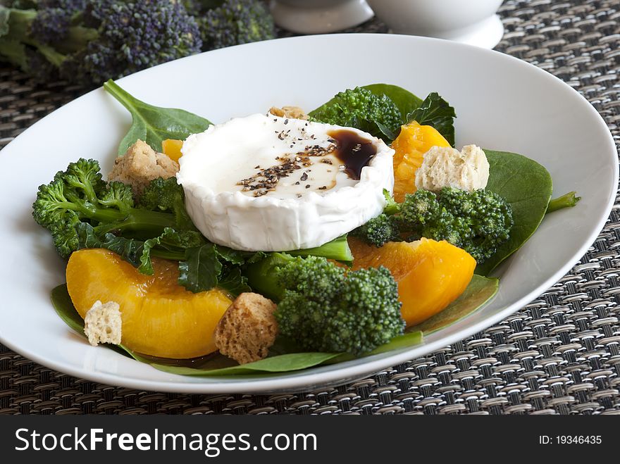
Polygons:
<instances>
[{"instance_id":1,"label":"pale cream crouton right of the cheese, beside an orange wedge","mask_svg":"<svg viewBox=\"0 0 620 464\"><path fill-rule=\"evenodd\" d=\"M489 181L489 162L480 147L466 145L461 151L450 146L433 146L424 153L416 170L417 189L439 192L443 187L483 189Z\"/></svg>"}]
</instances>

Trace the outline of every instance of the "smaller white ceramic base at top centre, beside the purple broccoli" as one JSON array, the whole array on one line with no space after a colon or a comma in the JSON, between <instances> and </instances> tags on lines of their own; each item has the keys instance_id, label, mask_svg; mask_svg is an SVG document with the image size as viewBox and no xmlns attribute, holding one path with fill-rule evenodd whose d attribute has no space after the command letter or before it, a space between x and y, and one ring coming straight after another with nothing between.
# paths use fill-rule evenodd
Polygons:
<instances>
[{"instance_id":1,"label":"smaller white ceramic base at top centre, beside the purple broccoli","mask_svg":"<svg viewBox=\"0 0 620 464\"><path fill-rule=\"evenodd\" d=\"M373 17L366 0L271 0L275 24L297 34L325 34Z\"/></svg>"}]
</instances>

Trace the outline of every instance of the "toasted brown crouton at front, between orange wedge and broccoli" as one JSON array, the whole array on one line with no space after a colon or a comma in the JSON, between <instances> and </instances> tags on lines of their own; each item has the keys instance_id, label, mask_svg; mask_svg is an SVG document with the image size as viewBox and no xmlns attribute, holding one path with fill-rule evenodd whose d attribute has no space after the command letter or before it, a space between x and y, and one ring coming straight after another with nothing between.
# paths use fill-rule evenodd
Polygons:
<instances>
[{"instance_id":1,"label":"toasted brown crouton at front, between orange wedge and broccoli","mask_svg":"<svg viewBox=\"0 0 620 464\"><path fill-rule=\"evenodd\" d=\"M275 303L256 293L237 296L216 327L216 346L237 363L252 363L267 356L278 334Z\"/></svg>"}]
</instances>

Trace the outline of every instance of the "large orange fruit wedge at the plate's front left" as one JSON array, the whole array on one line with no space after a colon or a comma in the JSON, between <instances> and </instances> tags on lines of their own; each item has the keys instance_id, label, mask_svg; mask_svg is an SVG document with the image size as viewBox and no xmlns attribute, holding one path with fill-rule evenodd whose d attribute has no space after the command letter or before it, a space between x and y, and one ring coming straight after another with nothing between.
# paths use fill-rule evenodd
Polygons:
<instances>
[{"instance_id":1,"label":"large orange fruit wedge at the plate's front left","mask_svg":"<svg viewBox=\"0 0 620 464\"><path fill-rule=\"evenodd\" d=\"M97 300L116 301L122 343L161 358L195 358L216 351L213 332L232 301L224 291L192 293L178 284L178 263L153 259L154 275L138 272L104 249L75 251L67 288L82 318Z\"/></svg>"}]
</instances>

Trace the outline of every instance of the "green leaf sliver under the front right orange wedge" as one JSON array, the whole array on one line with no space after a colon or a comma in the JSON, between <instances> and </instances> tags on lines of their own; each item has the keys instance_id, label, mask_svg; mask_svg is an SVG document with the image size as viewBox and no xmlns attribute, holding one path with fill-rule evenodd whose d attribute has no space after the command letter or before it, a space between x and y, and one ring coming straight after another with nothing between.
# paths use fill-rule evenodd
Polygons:
<instances>
[{"instance_id":1,"label":"green leaf sliver under the front right orange wedge","mask_svg":"<svg viewBox=\"0 0 620 464\"><path fill-rule=\"evenodd\" d=\"M465 291L450 306L410 330L429 334L454 324L492 299L499 284L499 279L474 274Z\"/></svg>"}]
</instances>

